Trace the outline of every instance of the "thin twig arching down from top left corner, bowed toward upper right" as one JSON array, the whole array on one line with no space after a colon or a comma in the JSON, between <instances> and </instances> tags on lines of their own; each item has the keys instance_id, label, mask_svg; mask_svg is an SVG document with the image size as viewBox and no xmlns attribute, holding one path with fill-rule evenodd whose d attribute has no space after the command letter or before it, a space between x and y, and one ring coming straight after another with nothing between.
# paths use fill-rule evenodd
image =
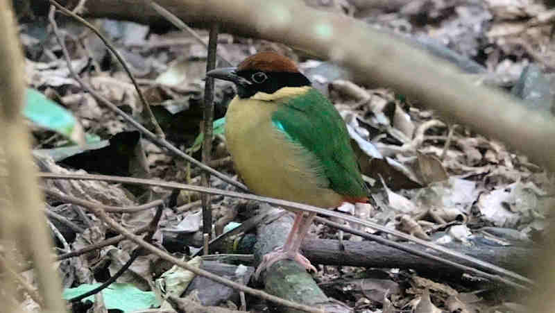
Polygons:
<instances>
[{"instance_id":1,"label":"thin twig arching down from top left corner, bowed toward upper right","mask_svg":"<svg viewBox=\"0 0 555 313\"><path fill-rule=\"evenodd\" d=\"M85 19L83 19L83 17L80 17L79 15L76 15L74 12L71 12L71 10L67 10L67 8L65 8L64 6L62 6L60 3L56 2L55 0L49 0L49 1L50 1L51 4L53 4L53 6L56 6L56 8L58 8L58 10L60 10L65 15L69 15L70 17L73 17L74 19L76 19L77 22L80 22L81 24L87 26L87 28L89 28L93 33L95 33L97 36L99 36L100 40L102 40L102 42L104 42L105 46L112 53L114 53L114 56L116 56L117 60L121 63L121 66L123 67L123 69L125 69L125 71L127 72L129 78L131 79L131 82L133 83L133 85L135 85L135 89L137 90L137 94L139 94L139 99L141 99L141 102L143 103L143 107L146 110L146 114L148 115L148 119L150 120L152 126L154 127L154 130L155 130L156 134L160 138L165 138L166 135L164 135L164 131L162 131L162 128L160 128L160 125L158 125L158 122L156 121L156 118L154 117L154 114L151 110L151 104L148 103L148 101L144 97L144 94L142 93L141 89L139 88L139 84L137 84L137 81L135 80L135 76L133 74L131 74L131 71L130 71L128 65L127 65L126 60L123 60L123 57L114 48L114 45L108 40L108 38L104 37L104 35L102 35L100 33L100 31L98 29L96 29L96 27L92 26L92 24L85 21ZM52 17L52 19L53 19L53 17Z\"/></svg>"}]
</instances>

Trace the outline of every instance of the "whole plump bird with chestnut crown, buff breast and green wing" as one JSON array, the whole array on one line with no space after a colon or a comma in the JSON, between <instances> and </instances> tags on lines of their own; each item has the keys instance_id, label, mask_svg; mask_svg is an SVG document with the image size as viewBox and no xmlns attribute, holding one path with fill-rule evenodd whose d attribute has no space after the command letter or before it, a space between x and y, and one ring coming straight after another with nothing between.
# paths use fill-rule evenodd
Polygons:
<instances>
[{"instance_id":1,"label":"whole plump bird with chestnut crown, buff breast and green wing","mask_svg":"<svg viewBox=\"0 0 555 313\"><path fill-rule=\"evenodd\" d=\"M225 113L225 141L252 192L327 209L368 201L345 122L293 60L263 51L207 76L237 88ZM316 214L286 209L295 214L293 228L281 248L264 255L255 278L284 259L317 272L299 252Z\"/></svg>"}]
</instances>

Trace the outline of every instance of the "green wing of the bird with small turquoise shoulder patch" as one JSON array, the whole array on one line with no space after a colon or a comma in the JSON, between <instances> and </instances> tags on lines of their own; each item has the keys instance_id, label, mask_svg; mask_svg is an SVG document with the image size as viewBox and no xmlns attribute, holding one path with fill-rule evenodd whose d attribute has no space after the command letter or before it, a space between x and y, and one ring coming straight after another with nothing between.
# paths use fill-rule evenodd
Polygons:
<instances>
[{"instance_id":1,"label":"green wing of the bird with small turquoise shoulder patch","mask_svg":"<svg viewBox=\"0 0 555 313\"><path fill-rule=\"evenodd\" d=\"M368 196L347 127L332 103L310 88L284 104L273 113L273 125L316 155L330 188L354 198Z\"/></svg>"}]
</instances>

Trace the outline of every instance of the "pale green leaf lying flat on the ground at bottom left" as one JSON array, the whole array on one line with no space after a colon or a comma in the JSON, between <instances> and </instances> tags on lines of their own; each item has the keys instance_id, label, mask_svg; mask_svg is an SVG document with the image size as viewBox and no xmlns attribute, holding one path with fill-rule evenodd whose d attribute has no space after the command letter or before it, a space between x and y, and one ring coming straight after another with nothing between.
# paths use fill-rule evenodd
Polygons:
<instances>
[{"instance_id":1,"label":"pale green leaf lying flat on the ground at bottom left","mask_svg":"<svg viewBox=\"0 0 555 313\"><path fill-rule=\"evenodd\" d=\"M101 284L83 284L75 288L67 288L64 290L63 298L68 300L85 294ZM125 312L133 312L138 310L151 309L153 307L160 307L160 303L156 300L153 291L142 291L131 284L121 284L114 282L112 285L102 289L102 296L104 304L108 310L121 310ZM94 296L88 296L83 299L85 301L94 302Z\"/></svg>"}]
</instances>

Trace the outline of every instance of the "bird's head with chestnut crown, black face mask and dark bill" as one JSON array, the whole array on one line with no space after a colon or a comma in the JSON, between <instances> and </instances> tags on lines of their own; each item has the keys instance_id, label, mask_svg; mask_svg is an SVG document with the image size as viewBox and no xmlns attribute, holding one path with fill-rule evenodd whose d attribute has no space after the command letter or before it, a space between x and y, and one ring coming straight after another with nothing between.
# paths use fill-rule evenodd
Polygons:
<instances>
[{"instance_id":1,"label":"bird's head with chestnut crown, black face mask and dark bill","mask_svg":"<svg viewBox=\"0 0 555 313\"><path fill-rule=\"evenodd\" d=\"M250 98L257 92L273 94L282 87L310 85L310 81L300 73L295 62L269 51L249 56L237 67L212 69L206 75L232 81L237 86L240 98Z\"/></svg>"}]
</instances>

